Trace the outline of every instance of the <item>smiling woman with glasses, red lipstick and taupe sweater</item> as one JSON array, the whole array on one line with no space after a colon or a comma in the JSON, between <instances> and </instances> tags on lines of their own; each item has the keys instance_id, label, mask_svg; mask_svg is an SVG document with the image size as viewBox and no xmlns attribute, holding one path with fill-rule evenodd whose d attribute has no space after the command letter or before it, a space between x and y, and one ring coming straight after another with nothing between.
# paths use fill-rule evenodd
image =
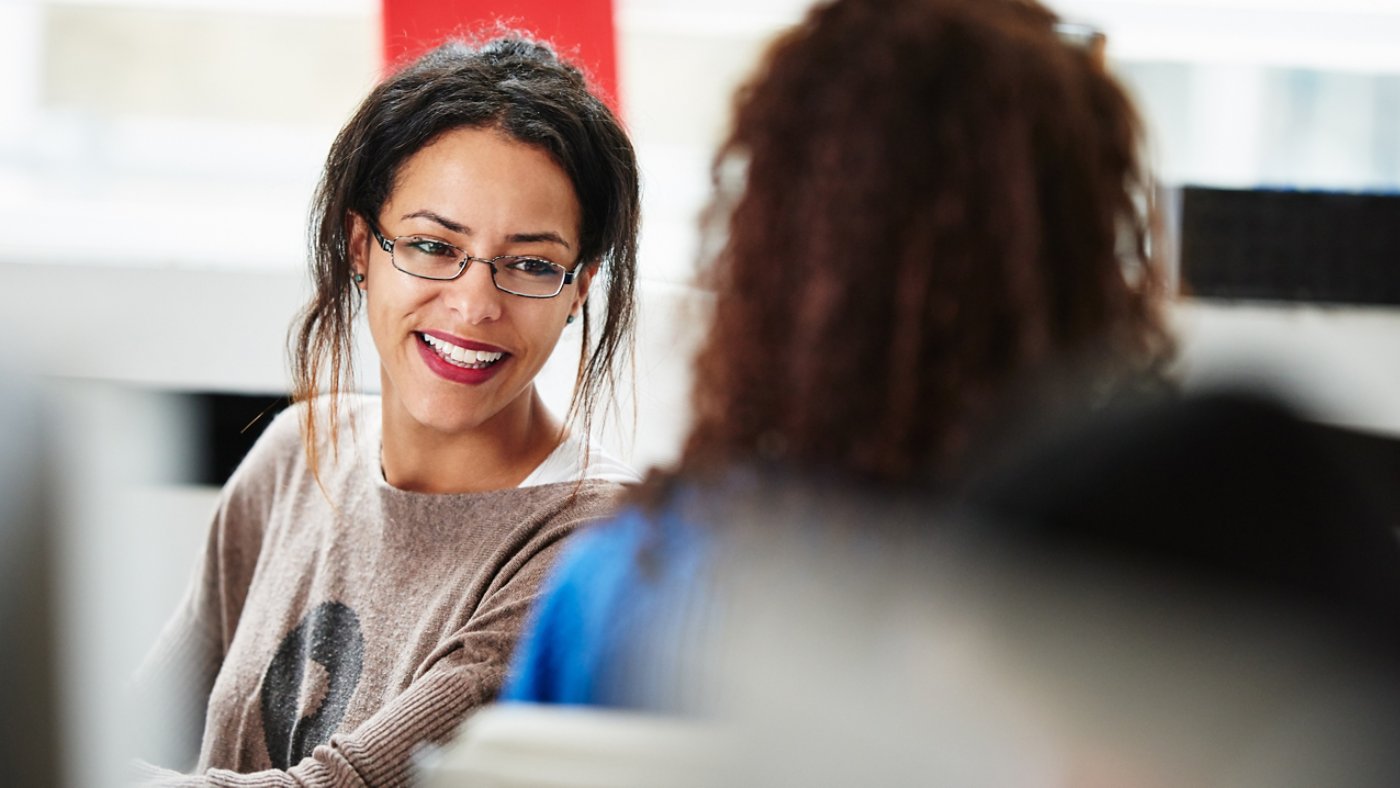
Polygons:
<instances>
[{"instance_id":1,"label":"smiling woman with glasses, red lipstick and taupe sweater","mask_svg":"<svg viewBox=\"0 0 1400 788\"><path fill-rule=\"evenodd\" d=\"M496 694L559 544L636 480L587 434L630 349L637 221L626 133L540 43L447 43L365 98L315 197L295 406L144 668L189 700L151 760L192 775L153 781L400 785ZM360 314L372 397L349 392ZM535 382L566 326L577 432Z\"/></svg>"}]
</instances>

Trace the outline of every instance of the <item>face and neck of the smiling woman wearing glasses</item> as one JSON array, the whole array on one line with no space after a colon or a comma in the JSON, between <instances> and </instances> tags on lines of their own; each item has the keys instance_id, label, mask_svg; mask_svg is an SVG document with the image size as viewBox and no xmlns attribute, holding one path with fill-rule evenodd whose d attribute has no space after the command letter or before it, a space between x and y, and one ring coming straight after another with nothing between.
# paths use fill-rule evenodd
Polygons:
<instances>
[{"instance_id":1,"label":"face and neck of the smiling woman wearing glasses","mask_svg":"<svg viewBox=\"0 0 1400 788\"><path fill-rule=\"evenodd\" d=\"M574 188L545 151L472 127L396 181L372 220L393 241L371 242L357 216L350 242L379 351L385 477L431 493L515 484L559 444L533 381L595 270L575 259Z\"/></svg>"}]
</instances>

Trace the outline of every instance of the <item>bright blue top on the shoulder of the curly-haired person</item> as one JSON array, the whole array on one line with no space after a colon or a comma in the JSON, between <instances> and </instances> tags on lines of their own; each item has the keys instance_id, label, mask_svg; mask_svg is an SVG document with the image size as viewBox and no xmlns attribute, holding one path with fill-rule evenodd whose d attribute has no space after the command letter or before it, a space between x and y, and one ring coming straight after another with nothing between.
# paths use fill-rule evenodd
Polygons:
<instances>
[{"instance_id":1,"label":"bright blue top on the shoulder of the curly-haired person","mask_svg":"<svg viewBox=\"0 0 1400 788\"><path fill-rule=\"evenodd\" d=\"M704 544L675 508L657 519L627 509L577 535L521 637L501 700L652 705L665 694L655 684L668 680L666 642L678 644L668 635L704 567Z\"/></svg>"}]
</instances>

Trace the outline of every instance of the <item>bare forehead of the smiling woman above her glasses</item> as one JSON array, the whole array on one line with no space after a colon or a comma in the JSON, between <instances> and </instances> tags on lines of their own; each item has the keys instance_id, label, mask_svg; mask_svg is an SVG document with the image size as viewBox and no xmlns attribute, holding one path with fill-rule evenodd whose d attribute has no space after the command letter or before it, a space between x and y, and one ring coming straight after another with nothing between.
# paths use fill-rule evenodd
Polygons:
<instances>
[{"instance_id":1,"label":"bare forehead of the smiling woman above her glasses","mask_svg":"<svg viewBox=\"0 0 1400 788\"><path fill-rule=\"evenodd\" d=\"M577 249L582 211L574 185L543 150L494 129L454 129L399 168L384 220L431 211L477 237L552 231Z\"/></svg>"}]
</instances>

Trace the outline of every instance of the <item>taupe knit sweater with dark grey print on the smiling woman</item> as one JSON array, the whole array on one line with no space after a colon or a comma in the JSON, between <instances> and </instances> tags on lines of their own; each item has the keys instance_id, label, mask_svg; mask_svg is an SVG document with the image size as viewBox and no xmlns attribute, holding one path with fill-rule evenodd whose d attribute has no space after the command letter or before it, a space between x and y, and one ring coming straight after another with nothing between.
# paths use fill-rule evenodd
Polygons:
<instances>
[{"instance_id":1,"label":"taupe knit sweater with dark grey print on the smiling woman","mask_svg":"<svg viewBox=\"0 0 1400 788\"><path fill-rule=\"evenodd\" d=\"M143 766L144 781L406 784L419 749L496 696L564 536L620 490L398 490L379 469L378 400L347 410L354 430L342 428L339 460L322 469L325 493L300 407L224 488L190 591L137 683L176 683L193 700L197 766Z\"/></svg>"}]
</instances>

